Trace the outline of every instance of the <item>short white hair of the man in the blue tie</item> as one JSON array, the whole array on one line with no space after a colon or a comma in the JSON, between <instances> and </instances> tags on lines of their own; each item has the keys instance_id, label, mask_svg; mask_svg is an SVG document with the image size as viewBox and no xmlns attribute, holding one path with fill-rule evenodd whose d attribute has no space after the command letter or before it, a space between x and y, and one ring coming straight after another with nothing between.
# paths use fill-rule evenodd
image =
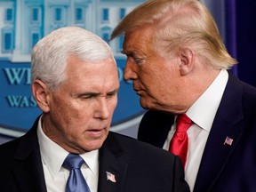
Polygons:
<instances>
[{"instance_id":1,"label":"short white hair of the man in the blue tie","mask_svg":"<svg viewBox=\"0 0 256 192\"><path fill-rule=\"evenodd\" d=\"M71 55L86 61L114 60L111 48L100 36L84 28L59 28L34 46L31 52L31 82L40 79L50 90L57 88L66 79L67 60Z\"/></svg>"}]
</instances>

